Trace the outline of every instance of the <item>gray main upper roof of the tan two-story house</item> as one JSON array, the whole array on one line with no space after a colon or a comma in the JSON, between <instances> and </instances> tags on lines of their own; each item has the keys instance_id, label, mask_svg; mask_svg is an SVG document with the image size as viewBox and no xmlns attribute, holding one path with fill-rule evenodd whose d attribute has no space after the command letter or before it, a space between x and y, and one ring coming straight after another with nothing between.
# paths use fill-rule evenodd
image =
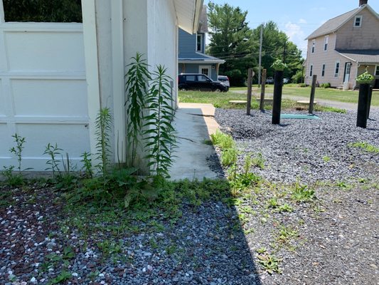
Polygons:
<instances>
[{"instance_id":1,"label":"gray main upper roof of the tan two-story house","mask_svg":"<svg viewBox=\"0 0 379 285\"><path fill-rule=\"evenodd\" d=\"M324 36L328 33L333 33L338 30L338 28L341 28L344 24L346 24L347 21L349 21L353 16L356 16L360 11L363 9L368 9L371 13L373 13L375 16L378 17L379 15L370 7L370 5L365 4L361 7L348 11L345 14L342 14L340 16L336 16L336 18L330 19L329 21L326 21L322 26L316 29L313 33L311 33L306 40L309 40L311 38L317 38L319 36Z\"/></svg>"}]
</instances>

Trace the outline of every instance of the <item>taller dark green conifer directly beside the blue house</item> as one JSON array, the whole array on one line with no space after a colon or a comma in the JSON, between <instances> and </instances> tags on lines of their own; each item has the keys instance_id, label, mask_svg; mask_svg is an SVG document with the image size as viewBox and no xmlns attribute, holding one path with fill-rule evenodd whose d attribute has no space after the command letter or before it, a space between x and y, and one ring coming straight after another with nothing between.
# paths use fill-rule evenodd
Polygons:
<instances>
[{"instance_id":1,"label":"taller dark green conifer directly beside the blue house","mask_svg":"<svg viewBox=\"0 0 379 285\"><path fill-rule=\"evenodd\" d=\"M225 74L233 86L243 86L247 69L257 66L257 41L247 26L247 11L229 4L208 4L211 56L225 59L220 65L220 74Z\"/></svg>"}]
</instances>

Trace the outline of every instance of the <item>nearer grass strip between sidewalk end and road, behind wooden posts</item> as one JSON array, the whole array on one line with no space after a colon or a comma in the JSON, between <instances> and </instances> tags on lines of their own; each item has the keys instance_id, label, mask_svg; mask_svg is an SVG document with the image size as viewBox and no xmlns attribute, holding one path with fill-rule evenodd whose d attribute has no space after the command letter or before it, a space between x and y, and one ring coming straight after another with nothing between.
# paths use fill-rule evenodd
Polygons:
<instances>
[{"instance_id":1,"label":"nearer grass strip between sidewalk end and road, behind wooden posts","mask_svg":"<svg viewBox=\"0 0 379 285\"><path fill-rule=\"evenodd\" d=\"M245 94L238 94L233 92L202 92L202 91L179 91L179 102L181 103L210 103L215 106L215 108L223 109L245 109L246 105L236 105L229 103L229 100L246 100ZM259 108L259 102L252 98L252 109L257 110ZM282 100L282 109L294 109L301 108L301 105L298 105L294 100L283 99ZM304 107L303 107L304 108ZM266 104L266 110L272 109L272 105ZM314 110L316 111L334 111L344 113L344 110L323 107L320 105L315 105Z\"/></svg>"}]
</instances>

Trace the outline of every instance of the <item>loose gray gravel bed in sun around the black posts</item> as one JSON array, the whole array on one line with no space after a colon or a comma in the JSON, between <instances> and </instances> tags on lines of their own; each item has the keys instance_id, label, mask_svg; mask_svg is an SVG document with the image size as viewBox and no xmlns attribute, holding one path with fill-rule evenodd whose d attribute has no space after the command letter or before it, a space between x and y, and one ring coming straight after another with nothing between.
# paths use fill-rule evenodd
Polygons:
<instances>
[{"instance_id":1,"label":"loose gray gravel bed in sun around the black posts","mask_svg":"<svg viewBox=\"0 0 379 285\"><path fill-rule=\"evenodd\" d=\"M280 182L351 180L378 176L379 155L349 143L368 142L379 147L379 112L372 111L368 128L356 128L356 113L319 113L321 120L282 119L271 124L271 115L243 110L217 109L223 131L233 135L241 155L262 153L265 169L254 172Z\"/></svg>"}]
</instances>

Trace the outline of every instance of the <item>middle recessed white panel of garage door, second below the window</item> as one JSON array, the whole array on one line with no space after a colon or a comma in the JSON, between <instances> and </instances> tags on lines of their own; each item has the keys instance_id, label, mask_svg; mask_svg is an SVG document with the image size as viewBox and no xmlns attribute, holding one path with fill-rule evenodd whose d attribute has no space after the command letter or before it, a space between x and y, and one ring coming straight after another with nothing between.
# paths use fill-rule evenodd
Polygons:
<instances>
[{"instance_id":1,"label":"middle recessed white panel of garage door, second below the window","mask_svg":"<svg viewBox=\"0 0 379 285\"><path fill-rule=\"evenodd\" d=\"M85 81L14 79L11 90L16 116L87 116Z\"/></svg>"}]
</instances>

